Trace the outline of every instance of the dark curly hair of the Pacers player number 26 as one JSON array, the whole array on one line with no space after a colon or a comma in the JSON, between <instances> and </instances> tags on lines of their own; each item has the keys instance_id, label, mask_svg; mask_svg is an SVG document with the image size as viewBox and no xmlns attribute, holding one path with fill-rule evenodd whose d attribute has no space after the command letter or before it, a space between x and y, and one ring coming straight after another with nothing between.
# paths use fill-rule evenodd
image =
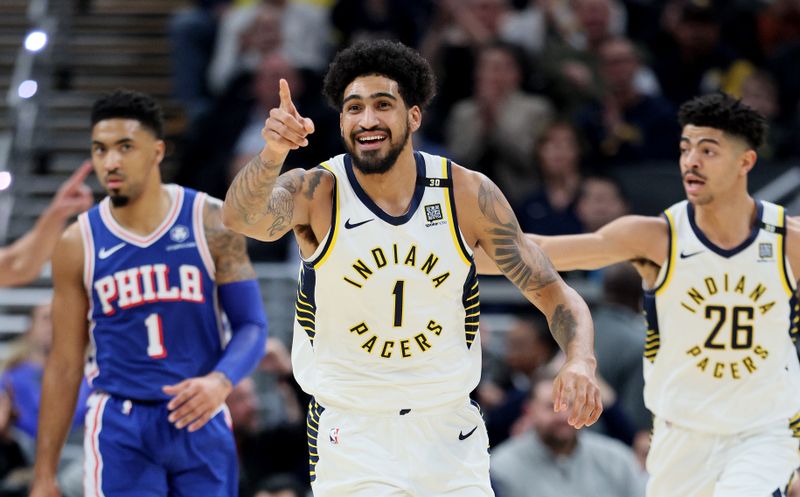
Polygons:
<instances>
[{"instance_id":1,"label":"dark curly hair of the Pacers player number 26","mask_svg":"<svg viewBox=\"0 0 800 497\"><path fill-rule=\"evenodd\" d=\"M678 111L681 127L687 124L719 129L742 138L753 149L764 143L767 120L759 112L726 93L695 97Z\"/></svg>"}]
</instances>

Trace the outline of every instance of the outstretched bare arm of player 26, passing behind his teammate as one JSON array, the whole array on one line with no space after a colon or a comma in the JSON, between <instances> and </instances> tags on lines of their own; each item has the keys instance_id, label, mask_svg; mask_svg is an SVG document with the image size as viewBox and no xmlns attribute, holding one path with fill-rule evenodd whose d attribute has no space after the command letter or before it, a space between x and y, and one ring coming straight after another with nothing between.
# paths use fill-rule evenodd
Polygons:
<instances>
[{"instance_id":1,"label":"outstretched bare arm of player 26, passing behind his teammate","mask_svg":"<svg viewBox=\"0 0 800 497\"><path fill-rule=\"evenodd\" d=\"M662 217L623 216L594 233L525 236L539 245L558 271L598 269L622 261L645 260L662 265L668 255L669 234ZM502 274L492 258L477 251L480 274Z\"/></svg>"}]
</instances>

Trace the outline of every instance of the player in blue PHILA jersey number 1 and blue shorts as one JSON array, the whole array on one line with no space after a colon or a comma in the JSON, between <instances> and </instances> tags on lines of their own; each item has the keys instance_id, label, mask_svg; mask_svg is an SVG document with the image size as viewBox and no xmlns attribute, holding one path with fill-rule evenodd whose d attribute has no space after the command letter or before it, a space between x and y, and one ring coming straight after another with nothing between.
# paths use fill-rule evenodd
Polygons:
<instances>
[{"instance_id":1,"label":"player in blue PHILA jersey number 1 and blue shorts","mask_svg":"<svg viewBox=\"0 0 800 497\"><path fill-rule=\"evenodd\" d=\"M85 365L94 390L85 495L235 496L224 402L266 340L244 238L222 225L218 200L162 184L163 125L150 97L106 95L91 122L92 163L108 196L56 248L31 495L59 494L66 413Z\"/></svg>"}]
</instances>

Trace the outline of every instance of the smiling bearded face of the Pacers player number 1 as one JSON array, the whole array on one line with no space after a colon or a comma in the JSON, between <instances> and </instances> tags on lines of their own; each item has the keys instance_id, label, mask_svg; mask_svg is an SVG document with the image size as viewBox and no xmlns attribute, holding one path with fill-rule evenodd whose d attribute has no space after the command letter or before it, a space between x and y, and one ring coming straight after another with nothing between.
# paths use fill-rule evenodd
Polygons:
<instances>
[{"instance_id":1,"label":"smiling bearded face of the Pacers player number 1","mask_svg":"<svg viewBox=\"0 0 800 497\"><path fill-rule=\"evenodd\" d=\"M410 109L397 82L385 76L361 76L347 85L339 115L344 146L364 174L382 174L411 147L419 129L419 107Z\"/></svg>"}]
</instances>

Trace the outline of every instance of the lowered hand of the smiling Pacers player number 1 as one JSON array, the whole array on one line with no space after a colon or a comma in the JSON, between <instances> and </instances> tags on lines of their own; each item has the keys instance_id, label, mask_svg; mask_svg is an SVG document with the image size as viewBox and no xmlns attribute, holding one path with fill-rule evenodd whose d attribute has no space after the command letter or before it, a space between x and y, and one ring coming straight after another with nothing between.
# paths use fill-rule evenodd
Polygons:
<instances>
[{"instance_id":1,"label":"lowered hand of the smiling Pacers player number 1","mask_svg":"<svg viewBox=\"0 0 800 497\"><path fill-rule=\"evenodd\" d=\"M553 383L553 409L560 412L570 407L567 421L575 429L594 424L603 412L594 369L593 361L570 359Z\"/></svg>"}]
</instances>

